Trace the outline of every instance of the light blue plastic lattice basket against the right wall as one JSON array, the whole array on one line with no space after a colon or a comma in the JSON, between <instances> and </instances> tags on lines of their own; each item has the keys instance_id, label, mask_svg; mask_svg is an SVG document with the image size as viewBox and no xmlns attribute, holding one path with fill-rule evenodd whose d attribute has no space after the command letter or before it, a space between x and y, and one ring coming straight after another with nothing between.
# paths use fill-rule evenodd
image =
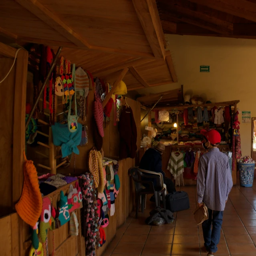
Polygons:
<instances>
[{"instance_id":1,"label":"light blue plastic lattice basket against the right wall","mask_svg":"<svg viewBox=\"0 0 256 256\"><path fill-rule=\"evenodd\" d=\"M255 163L238 163L240 186L252 187Z\"/></svg>"}]
</instances>

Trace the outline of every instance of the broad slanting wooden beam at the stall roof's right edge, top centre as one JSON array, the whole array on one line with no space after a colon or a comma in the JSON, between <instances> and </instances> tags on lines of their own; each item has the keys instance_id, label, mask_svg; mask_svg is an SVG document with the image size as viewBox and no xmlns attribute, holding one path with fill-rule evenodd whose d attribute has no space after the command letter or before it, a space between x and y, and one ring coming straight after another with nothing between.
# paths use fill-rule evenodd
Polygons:
<instances>
[{"instance_id":1,"label":"broad slanting wooden beam at the stall roof's right edge, top centre","mask_svg":"<svg viewBox=\"0 0 256 256\"><path fill-rule=\"evenodd\" d=\"M132 0L155 58L165 58L164 35L155 0Z\"/></svg>"}]
</instances>

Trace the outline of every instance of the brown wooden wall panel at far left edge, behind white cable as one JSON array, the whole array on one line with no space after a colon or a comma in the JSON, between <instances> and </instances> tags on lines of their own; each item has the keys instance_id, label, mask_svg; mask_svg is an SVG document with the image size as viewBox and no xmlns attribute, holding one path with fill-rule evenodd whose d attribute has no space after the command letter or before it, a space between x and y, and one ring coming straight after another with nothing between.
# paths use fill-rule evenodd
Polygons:
<instances>
[{"instance_id":1,"label":"brown wooden wall panel at far left edge, behind white cable","mask_svg":"<svg viewBox=\"0 0 256 256\"><path fill-rule=\"evenodd\" d=\"M0 77L6 76L12 66L12 58L0 58ZM13 111L15 66L8 77L1 83L6 93L0 94L0 217L12 212L12 143L13 143ZM5 88L5 89L4 89Z\"/></svg>"}]
</instances>

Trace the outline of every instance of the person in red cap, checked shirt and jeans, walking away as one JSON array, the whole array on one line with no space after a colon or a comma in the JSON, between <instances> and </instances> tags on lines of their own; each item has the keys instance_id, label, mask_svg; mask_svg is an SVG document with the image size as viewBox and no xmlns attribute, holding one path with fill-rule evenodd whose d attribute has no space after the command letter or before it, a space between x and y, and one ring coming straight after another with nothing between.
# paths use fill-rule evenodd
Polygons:
<instances>
[{"instance_id":1,"label":"person in red cap, checked shirt and jeans, walking away","mask_svg":"<svg viewBox=\"0 0 256 256\"><path fill-rule=\"evenodd\" d=\"M204 202L208 207L209 219L203 222L204 246L208 256L214 256L220 242L223 211L233 185L228 157L220 152L221 136L218 131L202 130L203 146L209 149L200 158L198 167L198 205Z\"/></svg>"}]
</instances>

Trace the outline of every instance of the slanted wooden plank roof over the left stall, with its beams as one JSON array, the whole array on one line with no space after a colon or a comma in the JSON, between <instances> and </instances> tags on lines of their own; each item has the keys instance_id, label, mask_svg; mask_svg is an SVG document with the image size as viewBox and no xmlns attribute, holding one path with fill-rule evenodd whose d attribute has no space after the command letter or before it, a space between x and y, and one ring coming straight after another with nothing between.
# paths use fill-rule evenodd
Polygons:
<instances>
[{"instance_id":1,"label":"slanted wooden plank roof over the left stall, with its beams","mask_svg":"<svg viewBox=\"0 0 256 256\"><path fill-rule=\"evenodd\" d=\"M177 82L155 0L4 0L1 36L63 46L62 56L109 83L127 67L128 90Z\"/></svg>"}]
</instances>

